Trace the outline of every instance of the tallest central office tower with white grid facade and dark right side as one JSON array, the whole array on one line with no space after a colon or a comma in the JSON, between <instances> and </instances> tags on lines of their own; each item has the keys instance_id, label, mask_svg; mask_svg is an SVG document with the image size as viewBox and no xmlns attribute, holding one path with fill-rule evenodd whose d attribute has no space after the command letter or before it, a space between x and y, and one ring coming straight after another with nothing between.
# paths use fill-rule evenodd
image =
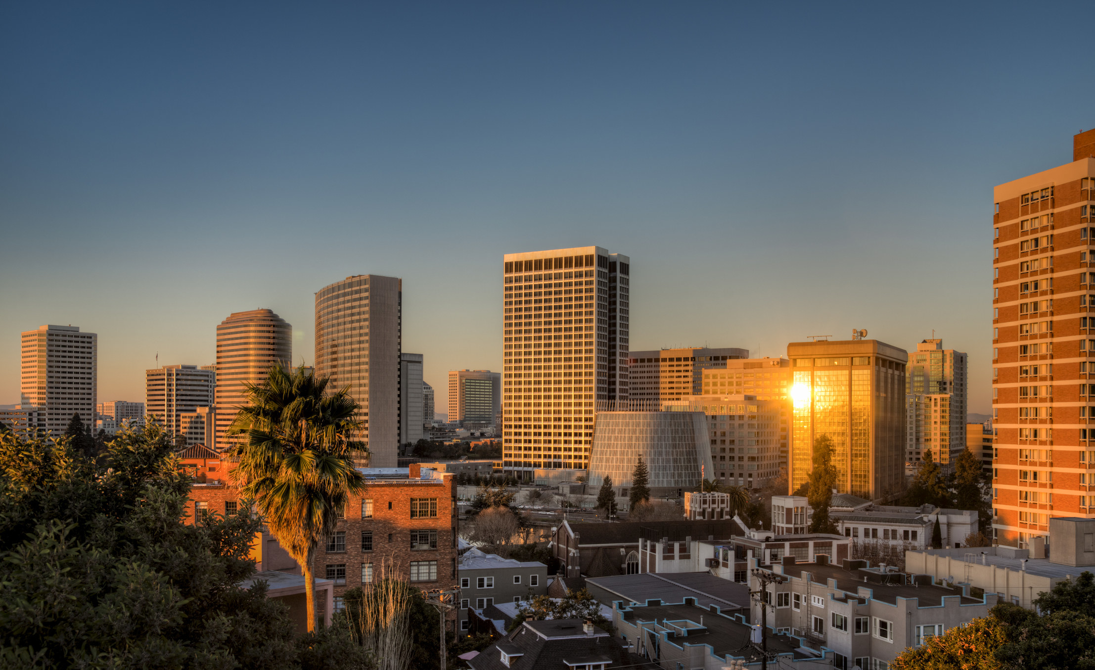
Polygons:
<instances>
[{"instance_id":1,"label":"tallest central office tower with white grid facade and dark right side","mask_svg":"<svg viewBox=\"0 0 1095 670\"><path fill-rule=\"evenodd\" d=\"M600 246L506 254L506 472L588 466L593 403L627 398L630 265Z\"/></svg>"}]
</instances>

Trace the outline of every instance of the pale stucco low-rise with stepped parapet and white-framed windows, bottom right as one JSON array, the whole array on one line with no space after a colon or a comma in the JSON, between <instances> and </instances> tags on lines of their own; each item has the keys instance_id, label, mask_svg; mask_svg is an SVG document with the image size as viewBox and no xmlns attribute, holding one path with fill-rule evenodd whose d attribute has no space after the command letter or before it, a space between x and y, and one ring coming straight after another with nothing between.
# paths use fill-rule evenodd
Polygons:
<instances>
[{"instance_id":1,"label":"pale stucco low-rise with stepped parapet and white-framed windows, bottom right","mask_svg":"<svg viewBox=\"0 0 1095 670\"><path fill-rule=\"evenodd\" d=\"M831 649L841 670L887 668L906 647L988 615L998 600L995 593L972 598L968 587L937 586L929 575L907 581L904 573L866 561L800 564L786 556L762 570L774 577L766 585L753 573L761 563L752 558L749 567L750 590L763 592L763 602L752 603L752 620L766 608L769 626Z\"/></svg>"}]
</instances>

